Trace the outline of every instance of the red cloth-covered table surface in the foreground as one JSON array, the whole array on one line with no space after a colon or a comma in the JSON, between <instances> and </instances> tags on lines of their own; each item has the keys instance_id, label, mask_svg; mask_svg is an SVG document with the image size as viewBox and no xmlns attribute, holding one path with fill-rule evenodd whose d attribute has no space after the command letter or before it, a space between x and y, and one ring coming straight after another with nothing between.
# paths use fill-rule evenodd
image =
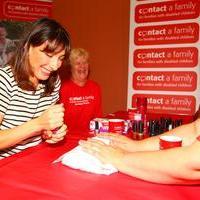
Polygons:
<instances>
[{"instance_id":1,"label":"red cloth-covered table surface in the foreground","mask_svg":"<svg viewBox=\"0 0 200 200\"><path fill-rule=\"evenodd\" d=\"M60 155L77 145L78 138L68 136L57 145L41 144L0 161L2 200L16 199L199 199L199 186L161 185L145 182L121 173L96 175L52 164ZM173 166L172 166L173 167Z\"/></svg>"}]
</instances>

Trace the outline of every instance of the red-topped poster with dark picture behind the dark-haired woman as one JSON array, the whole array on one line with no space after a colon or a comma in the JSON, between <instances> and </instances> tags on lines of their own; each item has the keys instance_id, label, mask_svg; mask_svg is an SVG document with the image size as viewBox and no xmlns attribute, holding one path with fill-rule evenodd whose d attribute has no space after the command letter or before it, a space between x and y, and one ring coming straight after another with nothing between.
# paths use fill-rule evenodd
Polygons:
<instances>
[{"instance_id":1,"label":"red-topped poster with dark picture behind the dark-haired woman","mask_svg":"<svg viewBox=\"0 0 200 200\"><path fill-rule=\"evenodd\" d=\"M3 67L31 23L51 17L52 0L1 0L0 11L0 67Z\"/></svg>"}]
</instances>

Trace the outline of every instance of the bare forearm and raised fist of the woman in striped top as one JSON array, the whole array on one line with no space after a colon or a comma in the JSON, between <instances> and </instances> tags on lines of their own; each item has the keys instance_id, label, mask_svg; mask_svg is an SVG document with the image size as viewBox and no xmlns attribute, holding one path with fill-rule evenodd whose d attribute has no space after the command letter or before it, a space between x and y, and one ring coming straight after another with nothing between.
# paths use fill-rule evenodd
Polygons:
<instances>
[{"instance_id":1,"label":"bare forearm and raised fist of the woman in striped top","mask_svg":"<svg viewBox=\"0 0 200 200\"><path fill-rule=\"evenodd\" d=\"M11 147L24 139L40 135L42 130L52 130L63 126L63 116L63 106L53 105L36 119L32 119L12 129L0 130L0 149ZM0 114L0 123L2 120L3 115Z\"/></svg>"}]
</instances>

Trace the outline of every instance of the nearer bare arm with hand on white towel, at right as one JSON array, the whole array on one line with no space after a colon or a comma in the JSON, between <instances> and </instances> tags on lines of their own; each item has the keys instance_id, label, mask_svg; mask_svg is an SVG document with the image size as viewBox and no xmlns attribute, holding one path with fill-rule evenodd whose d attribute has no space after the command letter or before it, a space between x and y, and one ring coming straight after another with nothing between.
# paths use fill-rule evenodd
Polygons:
<instances>
[{"instance_id":1,"label":"nearer bare arm with hand on white towel, at right","mask_svg":"<svg viewBox=\"0 0 200 200\"><path fill-rule=\"evenodd\" d=\"M99 141L81 141L88 153L120 172L162 184L200 184L200 142L161 151L124 152Z\"/></svg>"}]
</instances>

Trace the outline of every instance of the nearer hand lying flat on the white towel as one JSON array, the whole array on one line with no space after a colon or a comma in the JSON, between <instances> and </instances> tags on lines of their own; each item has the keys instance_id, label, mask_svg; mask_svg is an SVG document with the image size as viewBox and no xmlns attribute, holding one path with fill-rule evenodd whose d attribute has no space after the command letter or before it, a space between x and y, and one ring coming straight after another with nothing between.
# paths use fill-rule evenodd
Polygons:
<instances>
[{"instance_id":1,"label":"nearer hand lying flat on the white towel","mask_svg":"<svg viewBox=\"0 0 200 200\"><path fill-rule=\"evenodd\" d=\"M102 163L109 163L116 168L120 168L122 158L125 154L123 150L114 148L95 139L88 139L87 141L80 140L79 144L85 152L92 154Z\"/></svg>"}]
</instances>

